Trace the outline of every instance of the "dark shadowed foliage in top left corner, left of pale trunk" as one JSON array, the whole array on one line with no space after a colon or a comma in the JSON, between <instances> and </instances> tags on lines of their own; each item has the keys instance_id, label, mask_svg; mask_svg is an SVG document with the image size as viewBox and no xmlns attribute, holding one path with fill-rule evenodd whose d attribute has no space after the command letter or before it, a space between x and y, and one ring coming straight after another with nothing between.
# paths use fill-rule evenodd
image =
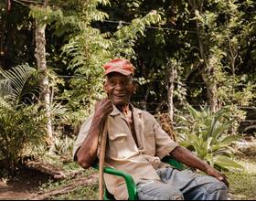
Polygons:
<instances>
[{"instance_id":1,"label":"dark shadowed foliage in top left corner, left of pale trunk","mask_svg":"<svg viewBox=\"0 0 256 201\"><path fill-rule=\"evenodd\" d=\"M2 6L3 5L3 6ZM28 18L29 8L11 3L11 10L6 10L6 2L1 1L0 10L0 66L8 69L21 63L31 63L35 48L33 41L33 24Z\"/></svg>"}]
</instances>

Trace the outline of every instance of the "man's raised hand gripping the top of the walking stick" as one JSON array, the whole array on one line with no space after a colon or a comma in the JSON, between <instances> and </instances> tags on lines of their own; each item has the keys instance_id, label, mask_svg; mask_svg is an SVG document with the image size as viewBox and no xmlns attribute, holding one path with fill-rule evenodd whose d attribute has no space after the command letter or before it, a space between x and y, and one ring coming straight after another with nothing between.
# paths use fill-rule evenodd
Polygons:
<instances>
[{"instance_id":1,"label":"man's raised hand gripping the top of the walking stick","mask_svg":"<svg viewBox=\"0 0 256 201\"><path fill-rule=\"evenodd\" d=\"M109 98L102 99L95 104L94 117L106 120L112 109L112 101Z\"/></svg>"}]
</instances>

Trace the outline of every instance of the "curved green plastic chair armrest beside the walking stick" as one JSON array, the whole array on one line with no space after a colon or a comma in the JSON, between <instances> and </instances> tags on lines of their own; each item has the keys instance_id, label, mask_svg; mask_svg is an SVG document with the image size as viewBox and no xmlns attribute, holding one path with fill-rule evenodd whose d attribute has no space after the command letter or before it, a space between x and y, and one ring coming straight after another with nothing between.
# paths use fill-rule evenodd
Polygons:
<instances>
[{"instance_id":1,"label":"curved green plastic chair armrest beside the walking stick","mask_svg":"<svg viewBox=\"0 0 256 201\"><path fill-rule=\"evenodd\" d=\"M93 164L92 166L96 169L99 169L99 164ZM125 184L127 186L129 200L138 199L137 189L136 189L136 185L134 183L132 175L129 175L127 173L124 173L123 171L114 169L112 167L104 167L104 173L123 177Z\"/></svg>"}]
</instances>

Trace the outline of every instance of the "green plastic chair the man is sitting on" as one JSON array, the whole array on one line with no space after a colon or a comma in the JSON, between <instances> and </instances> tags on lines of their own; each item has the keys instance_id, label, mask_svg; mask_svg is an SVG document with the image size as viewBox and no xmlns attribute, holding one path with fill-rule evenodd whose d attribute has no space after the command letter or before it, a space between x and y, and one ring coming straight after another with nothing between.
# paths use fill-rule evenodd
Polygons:
<instances>
[{"instance_id":1,"label":"green plastic chair the man is sitting on","mask_svg":"<svg viewBox=\"0 0 256 201\"><path fill-rule=\"evenodd\" d=\"M176 161L171 156L165 156L162 159L162 162L165 162L166 164L171 164L172 166L176 167L176 169L179 169L179 170L184 169L183 164ZM96 169L99 169L99 164L94 164L93 167ZM123 177L127 187L127 191L128 191L128 200L138 200L137 189L133 181L132 175L129 175L123 171L114 169L112 167L104 167L104 173ZM104 191L104 200L114 200L114 196L112 196L112 194L109 193L106 188Z\"/></svg>"}]
</instances>

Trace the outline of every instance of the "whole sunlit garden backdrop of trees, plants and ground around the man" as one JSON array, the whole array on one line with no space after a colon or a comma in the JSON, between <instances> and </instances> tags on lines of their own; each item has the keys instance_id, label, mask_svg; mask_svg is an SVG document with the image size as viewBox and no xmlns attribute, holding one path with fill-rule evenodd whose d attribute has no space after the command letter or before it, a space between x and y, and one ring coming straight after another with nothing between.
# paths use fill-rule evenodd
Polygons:
<instances>
[{"instance_id":1,"label":"whole sunlit garden backdrop of trees, plants and ground around the man","mask_svg":"<svg viewBox=\"0 0 256 201\"><path fill-rule=\"evenodd\" d=\"M134 106L255 199L256 2L1 0L0 199L97 199L72 161L104 97L102 65L129 58Z\"/></svg>"}]
</instances>

